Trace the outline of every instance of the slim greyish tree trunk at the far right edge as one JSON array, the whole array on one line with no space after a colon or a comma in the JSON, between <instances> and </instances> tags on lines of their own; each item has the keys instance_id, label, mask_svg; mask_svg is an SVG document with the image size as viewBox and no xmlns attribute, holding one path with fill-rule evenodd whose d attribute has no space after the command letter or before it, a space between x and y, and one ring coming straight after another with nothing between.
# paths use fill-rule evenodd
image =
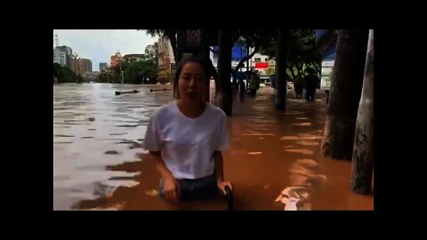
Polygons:
<instances>
[{"instance_id":1,"label":"slim greyish tree trunk at the far right edge","mask_svg":"<svg viewBox=\"0 0 427 240\"><path fill-rule=\"evenodd\" d=\"M374 171L374 30L369 30L365 77L354 134L351 190L370 194Z\"/></svg>"}]
</instances>

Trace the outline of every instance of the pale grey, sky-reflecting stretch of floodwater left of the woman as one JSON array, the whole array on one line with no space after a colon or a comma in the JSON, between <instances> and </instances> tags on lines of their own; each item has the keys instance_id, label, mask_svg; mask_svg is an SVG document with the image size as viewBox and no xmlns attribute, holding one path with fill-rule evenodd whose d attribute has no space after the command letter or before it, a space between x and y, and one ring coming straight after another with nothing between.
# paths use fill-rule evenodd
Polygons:
<instances>
[{"instance_id":1,"label":"pale grey, sky-reflecting stretch of floodwater left of the woman","mask_svg":"<svg viewBox=\"0 0 427 240\"><path fill-rule=\"evenodd\" d=\"M108 171L132 162L154 109L171 91L150 85L58 84L53 86L53 208L70 209L82 199L109 196L138 184L134 172ZM139 93L115 96L116 91Z\"/></svg>"}]
</instances>

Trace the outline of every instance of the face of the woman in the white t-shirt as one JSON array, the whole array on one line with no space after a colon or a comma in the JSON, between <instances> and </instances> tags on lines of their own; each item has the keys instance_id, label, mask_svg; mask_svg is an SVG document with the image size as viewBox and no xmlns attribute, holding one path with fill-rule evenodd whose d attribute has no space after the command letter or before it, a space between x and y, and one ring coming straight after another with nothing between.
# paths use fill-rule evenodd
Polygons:
<instances>
[{"instance_id":1,"label":"face of the woman in the white t-shirt","mask_svg":"<svg viewBox=\"0 0 427 240\"><path fill-rule=\"evenodd\" d=\"M202 66L196 62L187 62L182 68L178 80L178 91L181 98L203 100L206 82Z\"/></svg>"}]
</instances>

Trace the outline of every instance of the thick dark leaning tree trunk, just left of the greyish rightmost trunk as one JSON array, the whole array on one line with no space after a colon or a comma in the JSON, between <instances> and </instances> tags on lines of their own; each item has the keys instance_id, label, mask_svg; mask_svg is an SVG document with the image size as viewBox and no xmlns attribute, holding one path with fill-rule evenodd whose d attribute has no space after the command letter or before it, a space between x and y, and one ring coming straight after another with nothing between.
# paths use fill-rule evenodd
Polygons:
<instances>
[{"instance_id":1,"label":"thick dark leaning tree trunk, just left of the greyish rightmost trunk","mask_svg":"<svg viewBox=\"0 0 427 240\"><path fill-rule=\"evenodd\" d=\"M325 132L324 156L351 159L362 91L368 30L339 30Z\"/></svg>"}]
</instances>

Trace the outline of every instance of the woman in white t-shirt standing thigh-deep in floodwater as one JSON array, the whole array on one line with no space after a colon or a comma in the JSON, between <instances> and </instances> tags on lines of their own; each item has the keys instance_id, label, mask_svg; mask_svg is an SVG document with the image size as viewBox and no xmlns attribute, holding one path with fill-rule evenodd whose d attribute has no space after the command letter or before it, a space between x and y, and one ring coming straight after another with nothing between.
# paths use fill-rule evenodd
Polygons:
<instances>
[{"instance_id":1,"label":"woman in white t-shirt standing thigh-deep in floodwater","mask_svg":"<svg viewBox=\"0 0 427 240\"><path fill-rule=\"evenodd\" d=\"M225 186L232 189L222 169L222 150L230 148L227 116L204 100L210 76L203 60L181 60L177 100L149 120L143 147L161 175L159 194L168 200L210 198L218 189L225 194Z\"/></svg>"}]
</instances>

